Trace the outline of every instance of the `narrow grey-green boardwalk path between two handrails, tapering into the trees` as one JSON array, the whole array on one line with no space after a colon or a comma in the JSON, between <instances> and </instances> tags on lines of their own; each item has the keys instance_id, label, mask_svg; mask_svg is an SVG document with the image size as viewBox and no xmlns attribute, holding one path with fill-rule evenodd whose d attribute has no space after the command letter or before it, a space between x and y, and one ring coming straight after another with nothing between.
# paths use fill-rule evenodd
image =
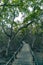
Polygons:
<instances>
[{"instance_id":1,"label":"narrow grey-green boardwalk path between two handrails, tapering into the trees","mask_svg":"<svg viewBox=\"0 0 43 65\"><path fill-rule=\"evenodd\" d=\"M28 44L24 44L21 51L17 54L17 59L14 60L12 65L34 65L33 57L30 52Z\"/></svg>"}]
</instances>

